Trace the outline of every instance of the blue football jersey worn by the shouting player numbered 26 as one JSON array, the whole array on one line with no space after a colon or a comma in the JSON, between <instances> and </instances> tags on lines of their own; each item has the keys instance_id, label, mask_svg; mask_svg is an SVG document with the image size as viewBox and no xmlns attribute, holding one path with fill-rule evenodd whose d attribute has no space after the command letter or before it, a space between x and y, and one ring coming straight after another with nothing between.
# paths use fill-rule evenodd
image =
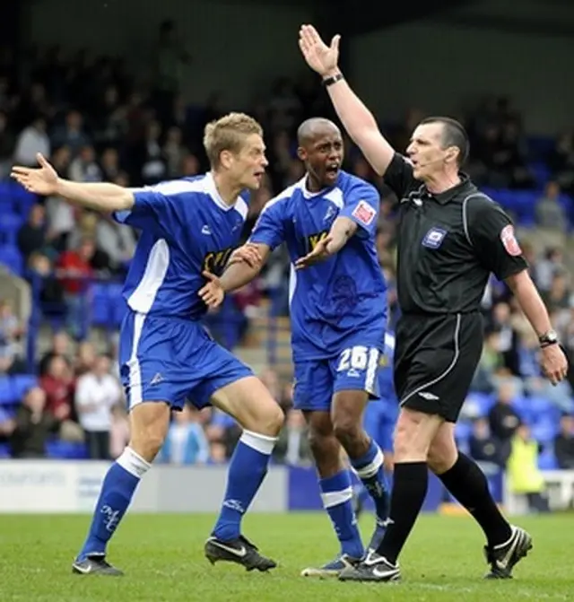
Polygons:
<instances>
[{"instance_id":1,"label":"blue football jersey worn by the shouting player numbered 26","mask_svg":"<svg viewBox=\"0 0 574 602\"><path fill-rule=\"evenodd\" d=\"M375 244L378 191L344 171L335 186L318 193L309 192L305 181L265 205L249 239L271 249L287 244L293 357L331 357L351 342L382 350L387 286ZM334 257L295 271L294 262L326 236L339 216L358 225L354 236Z\"/></svg>"}]
</instances>

